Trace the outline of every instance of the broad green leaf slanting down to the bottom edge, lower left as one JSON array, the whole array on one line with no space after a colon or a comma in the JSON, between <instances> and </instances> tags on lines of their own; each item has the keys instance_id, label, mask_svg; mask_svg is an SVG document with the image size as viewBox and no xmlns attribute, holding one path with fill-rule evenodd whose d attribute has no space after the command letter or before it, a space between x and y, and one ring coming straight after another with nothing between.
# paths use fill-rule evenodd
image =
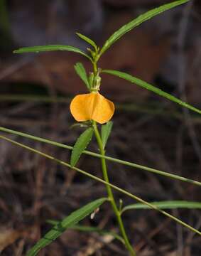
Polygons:
<instances>
[{"instance_id":1,"label":"broad green leaf slanting down to the bottom edge, lower left","mask_svg":"<svg viewBox=\"0 0 201 256\"><path fill-rule=\"evenodd\" d=\"M31 250L28 251L27 256L37 255L41 249L58 238L65 230L67 230L67 228L70 228L72 225L78 223L80 220L99 208L99 206L101 206L105 201L107 201L107 198L100 198L92 203L88 203L86 206L83 206L79 210L75 210L75 212L71 213L62 221L54 225L54 227L48 231L48 233L46 233L45 236L31 248Z\"/></svg>"}]
</instances>

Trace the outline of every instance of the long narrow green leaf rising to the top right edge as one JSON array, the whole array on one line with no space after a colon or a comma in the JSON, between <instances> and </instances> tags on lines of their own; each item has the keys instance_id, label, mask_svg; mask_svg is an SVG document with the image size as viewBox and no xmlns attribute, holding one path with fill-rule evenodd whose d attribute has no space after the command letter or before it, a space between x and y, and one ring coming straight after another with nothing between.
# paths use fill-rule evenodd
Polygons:
<instances>
[{"instance_id":1,"label":"long narrow green leaf rising to the top right edge","mask_svg":"<svg viewBox=\"0 0 201 256\"><path fill-rule=\"evenodd\" d=\"M130 21L126 25L119 28L118 31L116 31L112 36L107 39L107 41L104 43L104 46L102 47L102 50L100 51L100 55L102 55L110 46L112 46L113 43L115 43L121 36L124 36L125 33L131 31L131 29L135 28L136 26L140 25L144 21L147 21L150 18L153 18L154 16L157 16L158 14L163 13L163 11L167 11L168 9L172 9L175 6L178 6L180 4L185 4L189 0L179 0L174 1L169 4L164 4L163 6L160 6L156 9L152 9L151 11L146 12L145 14L142 14L141 16L138 16L138 18L135 18L133 21Z\"/></svg>"}]
</instances>

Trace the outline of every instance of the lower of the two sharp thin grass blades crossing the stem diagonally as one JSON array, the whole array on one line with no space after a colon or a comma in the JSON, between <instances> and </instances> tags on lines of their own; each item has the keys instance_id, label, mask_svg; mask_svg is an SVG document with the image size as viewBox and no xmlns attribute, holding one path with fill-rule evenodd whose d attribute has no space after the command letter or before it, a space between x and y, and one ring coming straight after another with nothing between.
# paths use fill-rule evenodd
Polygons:
<instances>
[{"instance_id":1,"label":"lower of the two sharp thin grass blades crossing the stem diagonally","mask_svg":"<svg viewBox=\"0 0 201 256\"><path fill-rule=\"evenodd\" d=\"M23 149L27 149L28 151L31 151L33 153L36 153L36 154L38 154L40 156L45 157L46 159L50 159L52 161L55 161L57 164L60 164L60 165L63 165L63 166L67 166L68 168L71 168L71 169L79 172L80 174L83 174L83 175L85 175L85 176L87 176L89 178L92 178L95 181L99 181L99 182L101 182L101 183L103 183L105 185L108 185L111 188L114 188L116 191L124 193L124 195L129 196L129 197L133 198L134 200L138 201L139 203L143 203L146 206L149 206L150 208L153 208L153 210L157 210L159 213L162 213L163 215L167 216L168 218L170 218L172 220L175 220L175 222L179 223L180 225L183 225L185 228L188 228L189 230L197 233L198 235L201 235L201 232L199 230L193 228L192 226L190 226L187 223L183 222L182 220L176 218L175 216L171 215L170 213L165 212L165 210L161 210L157 206L153 206L151 203L148 203L147 201L144 201L142 198L139 198L138 196L135 196L134 194L129 193L128 191L125 191L124 189L119 188L118 186L115 186L112 183L109 183L107 181L102 180L102 178L98 178L97 176L89 174L87 171L83 171L83 170L81 170L81 169L79 169L77 167L72 167L72 166L70 166L70 164L67 164L65 161L61 161L60 159L56 159L55 157L50 156L48 154L45 154L45 153L43 153L41 151L38 151L36 149L33 149L30 146L26 146L26 145L21 144L19 142L15 142L12 139L6 138L4 136L0 136L0 139L4 139L7 142L11 142L12 144L14 144L16 146L21 146Z\"/></svg>"}]
</instances>

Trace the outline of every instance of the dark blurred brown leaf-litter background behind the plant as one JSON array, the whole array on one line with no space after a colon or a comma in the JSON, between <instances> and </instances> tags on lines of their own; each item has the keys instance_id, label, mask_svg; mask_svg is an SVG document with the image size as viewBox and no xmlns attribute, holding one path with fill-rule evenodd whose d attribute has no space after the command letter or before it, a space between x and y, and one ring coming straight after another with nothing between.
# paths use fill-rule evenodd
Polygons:
<instances>
[{"instance_id":1,"label":"dark blurred brown leaf-litter background behind the plant","mask_svg":"<svg viewBox=\"0 0 201 256\"><path fill-rule=\"evenodd\" d=\"M73 145L83 131L72 127L74 95L86 92L73 65L88 60L75 53L14 55L23 46L65 44L86 50L80 32L102 46L120 26L165 0L0 0L0 124L2 127ZM201 108L201 3L190 1L146 21L105 53L100 68L130 73ZM116 105L107 154L200 181L201 119L136 85L102 75L102 94ZM69 161L70 151L23 137L18 142ZM97 151L95 141L89 149ZM56 166L25 149L1 141L0 251L26 255L50 225L92 199L105 195L102 184ZM102 176L98 159L82 156L78 166ZM156 174L108 163L112 183L146 201L200 201L200 188ZM124 205L134 203L119 193ZM171 210L199 229L199 210ZM152 211L124 215L132 245L141 256L198 256L200 238ZM108 205L85 225L115 230ZM40 255L126 255L119 242L94 233L68 230Z\"/></svg>"}]
</instances>

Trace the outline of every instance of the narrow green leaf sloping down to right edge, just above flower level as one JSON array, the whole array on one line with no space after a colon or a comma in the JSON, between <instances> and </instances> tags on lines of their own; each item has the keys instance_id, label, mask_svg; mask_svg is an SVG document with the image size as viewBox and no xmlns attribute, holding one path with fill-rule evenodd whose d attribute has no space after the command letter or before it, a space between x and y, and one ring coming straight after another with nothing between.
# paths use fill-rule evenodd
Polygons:
<instances>
[{"instance_id":1,"label":"narrow green leaf sloping down to right edge, just above flower level","mask_svg":"<svg viewBox=\"0 0 201 256\"><path fill-rule=\"evenodd\" d=\"M189 110L192 110L194 112L197 112L199 114L201 114L201 110L197 109L196 107L192 107L191 105L189 105L186 102L183 102L182 100L179 100L178 98L174 97L173 95L170 95L167 92L163 92L163 90L158 89L157 87L148 84L147 82L144 82L143 80L140 80L138 78L135 78L132 75L120 72L120 71L116 71L116 70L102 70L102 73L108 73L110 75L116 75L119 78L123 78L125 80L128 80L129 82L133 82L134 84L141 86L143 88L145 88L146 90L150 90L151 92L155 92L156 94L165 97L168 100L171 100L175 103L178 103L179 105L188 108Z\"/></svg>"}]
</instances>

